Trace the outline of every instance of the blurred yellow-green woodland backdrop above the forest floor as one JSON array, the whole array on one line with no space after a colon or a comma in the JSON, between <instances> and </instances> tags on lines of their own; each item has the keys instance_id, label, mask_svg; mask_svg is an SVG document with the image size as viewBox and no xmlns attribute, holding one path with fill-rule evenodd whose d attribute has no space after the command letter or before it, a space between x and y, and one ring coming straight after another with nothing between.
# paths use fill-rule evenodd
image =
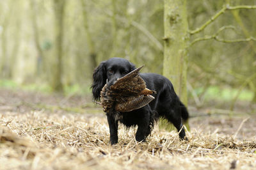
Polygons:
<instances>
[{"instance_id":1,"label":"blurred yellow-green woodland backdrop above the forest floor","mask_svg":"<svg viewBox=\"0 0 256 170\"><path fill-rule=\"evenodd\" d=\"M173 84L186 85L191 105L255 104L256 1L184 2L0 1L0 86L89 95L94 68L111 57L173 82L166 69L179 61L165 56L171 48L182 56L177 72L184 72ZM165 26L180 21L164 35Z\"/></svg>"}]
</instances>

